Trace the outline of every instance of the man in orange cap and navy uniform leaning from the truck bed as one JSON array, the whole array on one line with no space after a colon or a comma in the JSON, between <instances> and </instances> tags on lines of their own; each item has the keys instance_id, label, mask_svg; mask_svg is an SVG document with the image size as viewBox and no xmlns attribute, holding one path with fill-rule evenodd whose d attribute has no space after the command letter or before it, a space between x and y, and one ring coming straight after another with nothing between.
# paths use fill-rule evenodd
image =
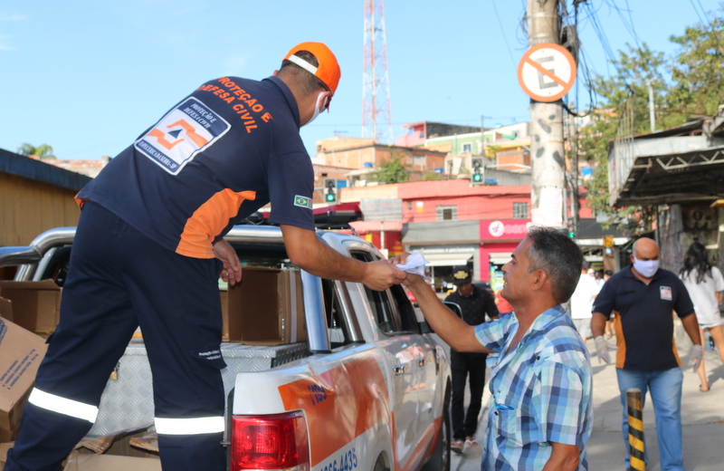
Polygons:
<instances>
[{"instance_id":1,"label":"man in orange cap and navy uniform leaning from the truck bed","mask_svg":"<svg viewBox=\"0 0 724 471\"><path fill-rule=\"evenodd\" d=\"M292 264L376 290L405 279L390 264L339 255L314 231L313 170L299 129L329 108L339 77L326 45L301 43L261 82L206 82L81 190L61 322L5 471L60 468L138 325L162 466L225 469L217 280L235 284L242 272L223 236L267 203Z\"/></svg>"}]
</instances>

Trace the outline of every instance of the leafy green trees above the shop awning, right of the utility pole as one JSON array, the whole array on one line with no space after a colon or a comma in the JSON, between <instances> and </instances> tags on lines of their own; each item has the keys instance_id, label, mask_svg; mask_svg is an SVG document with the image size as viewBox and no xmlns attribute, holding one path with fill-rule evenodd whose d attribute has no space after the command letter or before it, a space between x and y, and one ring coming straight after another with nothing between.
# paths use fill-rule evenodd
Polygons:
<instances>
[{"instance_id":1,"label":"leafy green trees above the shop awning, right of the utility pole","mask_svg":"<svg viewBox=\"0 0 724 471\"><path fill-rule=\"evenodd\" d=\"M590 86L598 101L591 125L579 131L578 153L597 163L593 177L586 182L588 203L596 213L627 217L629 228L637 231L651 229L656 207L610 207L608 147L616 132L623 132L626 117L631 122L627 135L651 131L649 81L659 130L717 114L724 97L724 3L721 5L715 14L710 13L707 24L688 27L683 35L670 37L672 43L681 46L672 57L651 51L645 43L639 48L626 44L628 51L619 51L613 61L617 74L592 80Z\"/></svg>"}]
</instances>

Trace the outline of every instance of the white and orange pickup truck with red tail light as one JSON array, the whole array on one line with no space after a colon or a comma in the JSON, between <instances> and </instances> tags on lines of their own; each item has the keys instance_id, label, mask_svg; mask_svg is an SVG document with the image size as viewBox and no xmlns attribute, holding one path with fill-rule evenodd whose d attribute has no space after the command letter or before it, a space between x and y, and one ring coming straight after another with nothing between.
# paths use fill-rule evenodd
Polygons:
<instances>
[{"instance_id":1,"label":"white and orange pickup truck with red tail light","mask_svg":"<svg viewBox=\"0 0 724 471\"><path fill-rule=\"evenodd\" d=\"M59 228L27 247L0 247L0 266L17 265L17 281L53 278L62 284L74 233L74 228ZM355 235L318 231L318 236L358 260L382 257ZM234 226L225 238L243 264L291 266L278 227ZM450 365L443 342L403 287L376 292L303 271L300 279L308 338L296 345L301 353L263 368L244 363L231 377L224 374L229 469L449 471ZM126 360L134 360L134 349L145 354L142 342L129 345ZM233 359L226 355L240 349L246 360L274 354L267 346L224 342L227 364ZM99 422L129 415L111 407L132 399L128 392L116 392L124 390L119 383L135 368L124 367L124 358L118 379L104 391ZM138 380L133 386L133 394L141 395L133 409L148 409L141 422L152 418L150 390L150 384L138 386ZM110 424L97 422L93 429L104 426Z\"/></svg>"}]
</instances>

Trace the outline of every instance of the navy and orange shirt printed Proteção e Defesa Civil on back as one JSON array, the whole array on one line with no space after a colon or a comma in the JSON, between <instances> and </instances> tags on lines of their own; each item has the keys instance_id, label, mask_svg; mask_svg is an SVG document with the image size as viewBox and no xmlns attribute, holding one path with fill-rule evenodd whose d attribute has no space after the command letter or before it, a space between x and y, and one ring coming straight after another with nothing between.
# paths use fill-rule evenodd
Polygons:
<instances>
[{"instance_id":1,"label":"navy and orange shirt printed Prote\u00e7\u00e3o e Defesa Civil on back","mask_svg":"<svg viewBox=\"0 0 724 471\"><path fill-rule=\"evenodd\" d=\"M224 77L196 89L78 194L178 254L213 243L271 202L270 221L314 228L314 172L287 85Z\"/></svg>"}]
</instances>

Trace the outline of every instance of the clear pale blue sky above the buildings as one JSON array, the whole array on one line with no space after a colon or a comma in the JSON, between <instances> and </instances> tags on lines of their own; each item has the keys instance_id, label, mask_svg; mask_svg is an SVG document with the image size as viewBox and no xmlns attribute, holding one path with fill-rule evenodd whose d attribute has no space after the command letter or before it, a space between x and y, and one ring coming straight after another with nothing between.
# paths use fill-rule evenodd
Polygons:
<instances>
[{"instance_id":1,"label":"clear pale blue sky above the buildings","mask_svg":"<svg viewBox=\"0 0 724 471\"><path fill-rule=\"evenodd\" d=\"M364 5L0 1L0 149L48 144L59 159L113 157L202 83L262 80L304 41L327 43L342 70L330 112L300 131L305 146L313 153L317 139L361 136ZM614 72L604 44L672 54L672 34L719 9L719 0L587 0L578 28L588 68ZM524 0L387 0L384 11L395 138L422 120L480 126L483 117L486 128L529 120L517 78L528 49ZM580 81L571 97L586 105Z\"/></svg>"}]
</instances>

